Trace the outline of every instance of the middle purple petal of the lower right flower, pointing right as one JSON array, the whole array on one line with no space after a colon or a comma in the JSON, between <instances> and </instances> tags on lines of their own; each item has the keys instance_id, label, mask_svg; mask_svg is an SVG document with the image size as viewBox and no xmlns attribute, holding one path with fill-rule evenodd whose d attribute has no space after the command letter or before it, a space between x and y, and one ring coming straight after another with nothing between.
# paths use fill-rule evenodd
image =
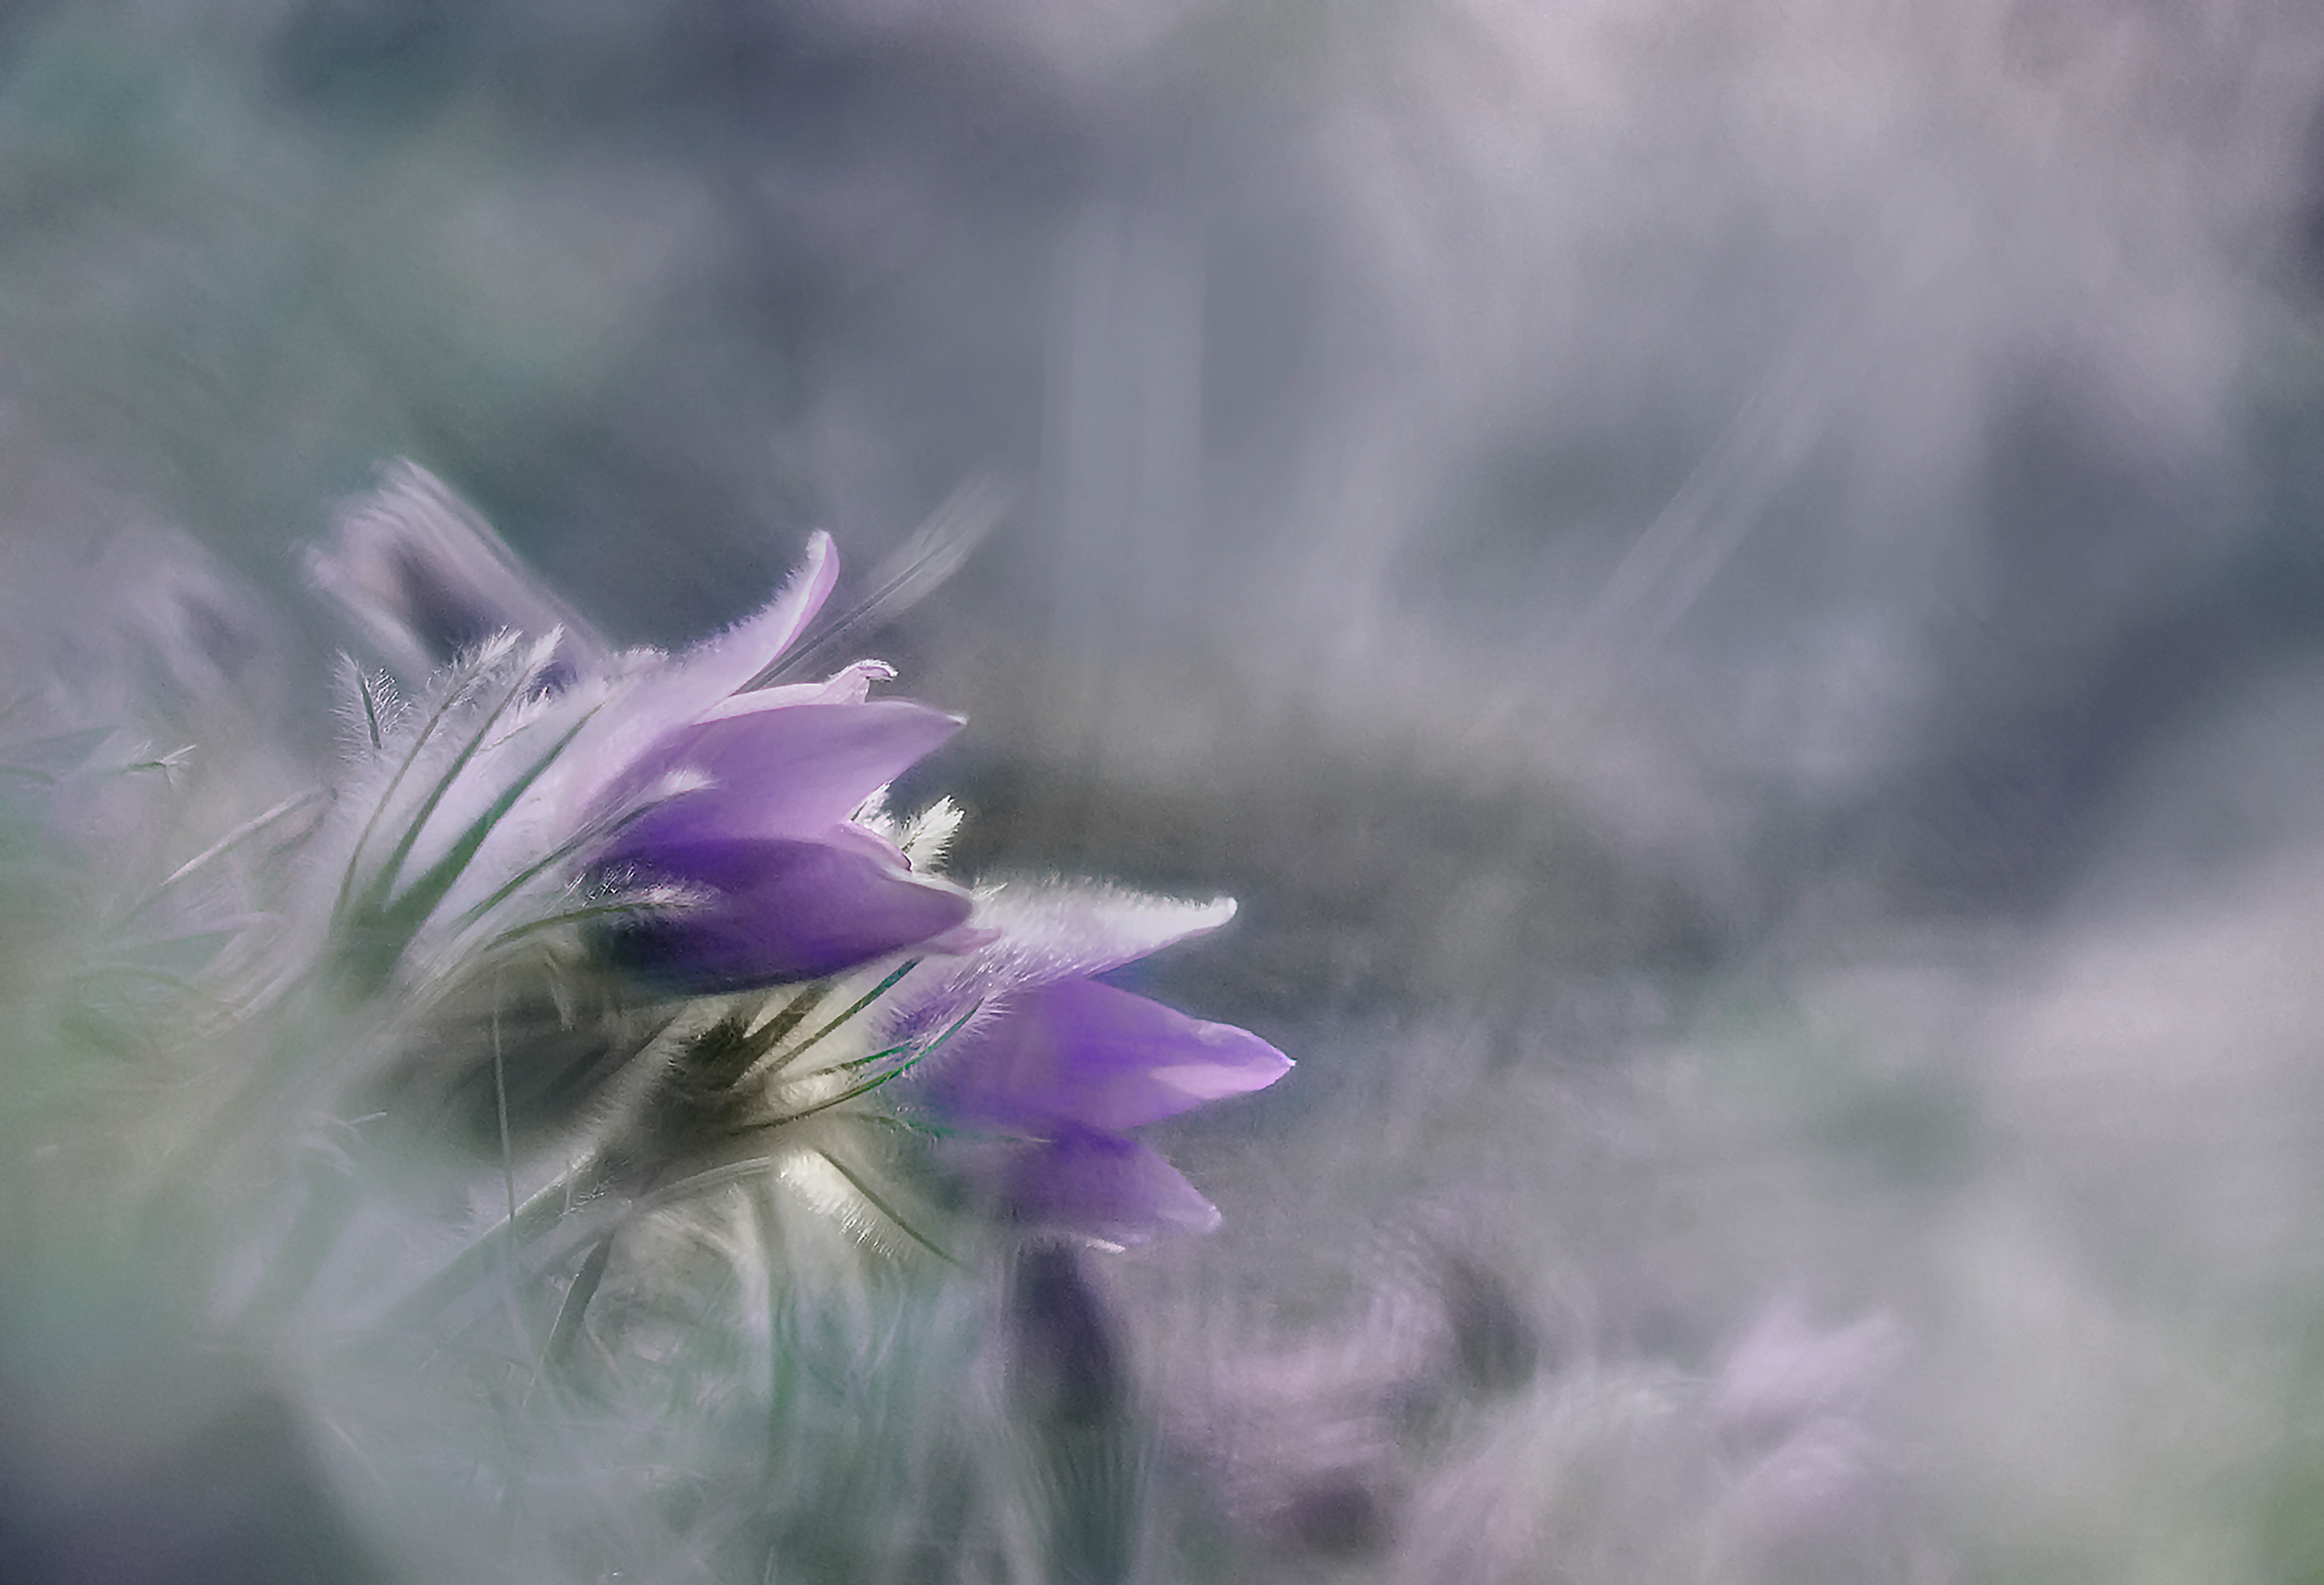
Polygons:
<instances>
[{"instance_id":1,"label":"middle purple petal of the lower right flower, pointing right","mask_svg":"<svg viewBox=\"0 0 2324 1585\"><path fill-rule=\"evenodd\" d=\"M937 1102L978 1123L1129 1129L1283 1078L1290 1057L1095 981L1013 997L937 1074Z\"/></svg>"}]
</instances>

